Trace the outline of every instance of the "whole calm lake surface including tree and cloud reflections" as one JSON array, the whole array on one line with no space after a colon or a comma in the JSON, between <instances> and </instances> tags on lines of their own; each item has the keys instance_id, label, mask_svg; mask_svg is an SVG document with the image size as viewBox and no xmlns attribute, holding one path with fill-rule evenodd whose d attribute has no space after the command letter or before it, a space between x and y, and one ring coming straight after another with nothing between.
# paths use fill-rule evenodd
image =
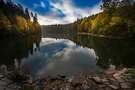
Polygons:
<instances>
[{"instance_id":1,"label":"whole calm lake surface including tree and cloud reflections","mask_svg":"<svg viewBox=\"0 0 135 90\"><path fill-rule=\"evenodd\" d=\"M77 35L0 38L0 64L18 62L33 77L90 73L135 65L135 43Z\"/></svg>"}]
</instances>

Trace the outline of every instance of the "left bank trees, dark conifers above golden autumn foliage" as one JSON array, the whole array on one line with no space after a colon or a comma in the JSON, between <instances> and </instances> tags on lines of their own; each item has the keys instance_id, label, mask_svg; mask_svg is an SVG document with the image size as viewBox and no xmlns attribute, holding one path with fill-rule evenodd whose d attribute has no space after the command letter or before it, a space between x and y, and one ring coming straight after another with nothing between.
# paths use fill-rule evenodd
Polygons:
<instances>
[{"instance_id":1,"label":"left bank trees, dark conifers above golden autumn foliage","mask_svg":"<svg viewBox=\"0 0 135 90\"><path fill-rule=\"evenodd\" d=\"M40 32L37 14L24 10L21 4L0 0L0 35L18 35Z\"/></svg>"}]
</instances>

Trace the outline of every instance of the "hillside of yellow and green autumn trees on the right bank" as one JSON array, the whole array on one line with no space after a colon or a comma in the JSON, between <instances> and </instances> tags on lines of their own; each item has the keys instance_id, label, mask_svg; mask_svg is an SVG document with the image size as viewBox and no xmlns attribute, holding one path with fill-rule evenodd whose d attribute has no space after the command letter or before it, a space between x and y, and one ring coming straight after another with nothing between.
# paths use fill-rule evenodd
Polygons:
<instances>
[{"instance_id":1,"label":"hillside of yellow and green autumn trees on the right bank","mask_svg":"<svg viewBox=\"0 0 135 90\"><path fill-rule=\"evenodd\" d=\"M103 12L85 17L77 25L79 33L135 38L134 0L102 0Z\"/></svg>"}]
</instances>

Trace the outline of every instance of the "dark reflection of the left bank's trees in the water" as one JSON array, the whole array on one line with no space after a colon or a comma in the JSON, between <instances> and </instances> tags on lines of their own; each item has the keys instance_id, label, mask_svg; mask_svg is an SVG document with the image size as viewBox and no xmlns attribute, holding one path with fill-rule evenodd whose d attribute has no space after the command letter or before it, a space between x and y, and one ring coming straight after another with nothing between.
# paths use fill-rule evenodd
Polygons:
<instances>
[{"instance_id":1,"label":"dark reflection of the left bank's trees in the water","mask_svg":"<svg viewBox=\"0 0 135 90\"><path fill-rule=\"evenodd\" d=\"M36 50L39 50L41 35L0 38L0 40L0 63L8 65L14 59L27 58L30 54L32 55Z\"/></svg>"}]
</instances>

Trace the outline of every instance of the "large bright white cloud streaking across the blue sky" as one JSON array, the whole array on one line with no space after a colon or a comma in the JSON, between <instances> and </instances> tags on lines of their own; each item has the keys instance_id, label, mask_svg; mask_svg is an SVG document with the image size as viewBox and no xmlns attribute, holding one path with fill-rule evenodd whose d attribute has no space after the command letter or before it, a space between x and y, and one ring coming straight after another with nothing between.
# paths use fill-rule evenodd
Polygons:
<instances>
[{"instance_id":1,"label":"large bright white cloud streaking across the blue sky","mask_svg":"<svg viewBox=\"0 0 135 90\"><path fill-rule=\"evenodd\" d=\"M41 25L49 25L49 24L66 24L72 23L77 18L86 17L92 14L96 14L101 12L100 5L101 2L93 7L87 8L79 8L74 6L72 0L59 0L60 2L51 2L49 1L50 5L54 7L51 9L48 15L39 15L39 23ZM60 10L65 16L60 18L59 12Z\"/></svg>"}]
</instances>

